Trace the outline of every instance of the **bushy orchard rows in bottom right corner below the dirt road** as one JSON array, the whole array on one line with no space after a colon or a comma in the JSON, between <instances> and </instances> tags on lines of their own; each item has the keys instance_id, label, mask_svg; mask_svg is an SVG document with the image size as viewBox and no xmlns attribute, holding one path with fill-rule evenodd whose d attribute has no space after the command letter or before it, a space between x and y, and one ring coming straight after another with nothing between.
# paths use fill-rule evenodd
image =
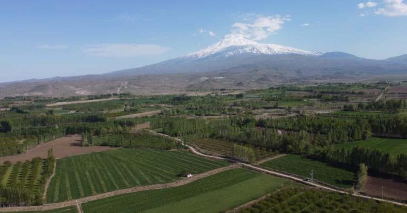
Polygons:
<instances>
[{"instance_id":1,"label":"bushy orchard rows in bottom right corner below the dirt road","mask_svg":"<svg viewBox=\"0 0 407 213\"><path fill-rule=\"evenodd\" d=\"M405 207L311 188L286 188L243 209L240 213L404 213Z\"/></svg>"}]
</instances>

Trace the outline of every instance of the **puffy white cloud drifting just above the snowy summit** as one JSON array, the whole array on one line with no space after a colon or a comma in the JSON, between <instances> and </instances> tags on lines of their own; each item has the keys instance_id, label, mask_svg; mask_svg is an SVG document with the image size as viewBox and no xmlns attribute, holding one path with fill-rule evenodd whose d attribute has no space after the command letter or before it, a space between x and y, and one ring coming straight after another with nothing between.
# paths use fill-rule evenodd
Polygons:
<instances>
[{"instance_id":1,"label":"puffy white cloud drifting just above the snowy summit","mask_svg":"<svg viewBox=\"0 0 407 213\"><path fill-rule=\"evenodd\" d=\"M262 40L282 29L284 22L291 21L289 17L288 15L285 17L280 15L258 16L251 23L237 22L233 24L232 33L241 34L252 40Z\"/></svg>"}]
</instances>

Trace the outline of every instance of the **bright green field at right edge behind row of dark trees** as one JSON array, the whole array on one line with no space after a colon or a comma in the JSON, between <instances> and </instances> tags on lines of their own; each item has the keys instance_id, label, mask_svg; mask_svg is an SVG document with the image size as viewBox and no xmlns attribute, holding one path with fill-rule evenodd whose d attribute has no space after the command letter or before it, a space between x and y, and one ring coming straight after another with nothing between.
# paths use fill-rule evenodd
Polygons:
<instances>
[{"instance_id":1,"label":"bright green field at right edge behind row of dark trees","mask_svg":"<svg viewBox=\"0 0 407 213\"><path fill-rule=\"evenodd\" d=\"M335 144L335 149L352 149L353 147L369 147L393 155L407 154L407 139L372 137L367 140Z\"/></svg>"}]
</instances>

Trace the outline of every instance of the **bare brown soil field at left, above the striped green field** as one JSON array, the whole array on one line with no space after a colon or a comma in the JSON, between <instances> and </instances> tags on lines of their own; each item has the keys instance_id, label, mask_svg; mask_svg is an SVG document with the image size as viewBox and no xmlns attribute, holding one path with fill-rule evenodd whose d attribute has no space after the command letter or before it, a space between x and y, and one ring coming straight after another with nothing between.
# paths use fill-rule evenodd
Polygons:
<instances>
[{"instance_id":1,"label":"bare brown soil field at left, above the striped green field","mask_svg":"<svg viewBox=\"0 0 407 213\"><path fill-rule=\"evenodd\" d=\"M78 135L61 137L51 142L41 144L23 154L0 157L0 163L10 161L14 164L18 161L24 162L25 160L31 160L35 157L47 158L49 149L53 150L56 158L87 154L91 152L103 152L112 149L110 147L99 146L82 147L80 146L82 142L81 140L81 137Z\"/></svg>"}]
</instances>

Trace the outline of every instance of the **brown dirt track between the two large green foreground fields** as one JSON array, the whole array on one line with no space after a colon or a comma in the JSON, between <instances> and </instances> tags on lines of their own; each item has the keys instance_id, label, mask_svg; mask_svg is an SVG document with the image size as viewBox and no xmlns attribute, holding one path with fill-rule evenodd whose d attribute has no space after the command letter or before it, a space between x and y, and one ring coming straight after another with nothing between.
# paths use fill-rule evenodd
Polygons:
<instances>
[{"instance_id":1,"label":"brown dirt track between the two large green foreground fields","mask_svg":"<svg viewBox=\"0 0 407 213\"><path fill-rule=\"evenodd\" d=\"M137 186L137 187L132 187L132 188L127 188L127 189L121 189L121 190L116 190L112 192L107 192L99 195L94 195L86 198L79 198L76 200L70 200L70 201L65 201L65 202L60 202L60 203L50 203L50 204L45 204L42 206L21 206L21 207L6 207L6 208L0 208L0 212L26 212L26 211L45 211L45 210L53 210L53 209L60 209L63 207L68 207L68 206L77 206L79 213L81 211L81 204L89 201L94 201L102 198L109 198L112 196L117 196L117 195L123 195L123 194L128 194L128 193L133 193L133 192L141 192L141 191L148 191L148 190L157 190L157 189L164 189L164 188L172 188L172 187L177 187L181 185L185 185L188 183L192 183L194 181L218 174L220 172L234 169L241 167L241 164L232 164L227 167L220 167L217 169L213 169L207 172L204 172L202 174L197 174L194 175L192 178L184 178L182 180L172 182L172 183L161 183L161 184L154 184L154 185L146 185L146 186Z\"/></svg>"}]
</instances>

